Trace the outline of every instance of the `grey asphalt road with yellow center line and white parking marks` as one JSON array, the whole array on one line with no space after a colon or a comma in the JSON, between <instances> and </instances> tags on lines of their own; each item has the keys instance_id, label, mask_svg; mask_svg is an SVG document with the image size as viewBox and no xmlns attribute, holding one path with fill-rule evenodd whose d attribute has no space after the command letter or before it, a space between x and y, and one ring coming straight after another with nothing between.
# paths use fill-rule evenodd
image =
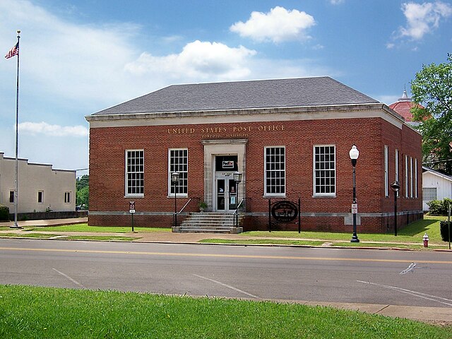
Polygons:
<instances>
[{"instance_id":1,"label":"grey asphalt road with yellow center line and white parking marks","mask_svg":"<svg viewBox=\"0 0 452 339\"><path fill-rule=\"evenodd\" d=\"M450 308L452 255L0 239L0 283Z\"/></svg>"}]
</instances>

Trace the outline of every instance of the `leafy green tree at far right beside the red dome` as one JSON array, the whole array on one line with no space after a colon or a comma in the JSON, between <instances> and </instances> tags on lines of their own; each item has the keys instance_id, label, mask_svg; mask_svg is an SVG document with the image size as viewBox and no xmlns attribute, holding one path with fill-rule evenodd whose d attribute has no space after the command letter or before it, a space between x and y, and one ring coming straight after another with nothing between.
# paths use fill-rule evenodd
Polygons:
<instances>
[{"instance_id":1,"label":"leafy green tree at far right beside the red dome","mask_svg":"<svg viewBox=\"0 0 452 339\"><path fill-rule=\"evenodd\" d=\"M422 133L423 162L452 174L452 54L444 64L423 65L411 82L411 110ZM423 107L420 107L420 104Z\"/></svg>"}]
</instances>

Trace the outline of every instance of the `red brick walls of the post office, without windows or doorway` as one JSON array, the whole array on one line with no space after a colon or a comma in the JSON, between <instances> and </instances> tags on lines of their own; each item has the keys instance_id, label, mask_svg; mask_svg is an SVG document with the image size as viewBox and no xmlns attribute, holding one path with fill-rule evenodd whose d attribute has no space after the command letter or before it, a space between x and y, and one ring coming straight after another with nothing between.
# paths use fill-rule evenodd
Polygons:
<instances>
[{"instance_id":1,"label":"red brick walls of the post office, without windows or doorway","mask_svg":"<svg viewBox=\"0 0 452 339\"><path fill-rule=\"evenodd\" d=\"M246 198L251 198L251 212L266 213L268 210L268 199L263 198L265 146L285 146L287 199L295 201L301 198L303 213L349 212L352 203L352 165L348 152L354 143L359 149L356 167L359 213L393 213L393 192L389 189L389 196L384 194L384 145L388 145L389 184L395 178L396 149L399 150L400 182L404 179L405 154L417 159L418 198L405 198L401 189L398 210L406 213L422 210L421 138L408 126L400 130L380 118L90 129L90 210L126 211L129 201L134 200L137 211L167 213L166 216L143 215L140 218L137 215L136 225L169 227L174 198L168 197L168 148L188 148L188 195L189 198L203 198L204 148L201 140L210 138L248 140L246 182L242 182L240 189L245 187ZM337 183L334 198L313 198L313 145L335 145ZM143 198L124 197L125 150L128 149L144 149ZM401 186L404 187L402 183ZM179 198L178 209L187 200ZM186 211L196 209L196 206L191 205ZM89 219L90 225L130 224L128 215L93 215ZM386 232L388 228L386 217L362 218L361 222L360 227L369 232ZM302 223L305 229L351 230L351 225L344 225L343 217L309 217L304 218ZM267 224L266 218L249 218L246 228L266 229ZM398 225L402 227L404 224L400 220Z\"/></svg>"}]
</instances>

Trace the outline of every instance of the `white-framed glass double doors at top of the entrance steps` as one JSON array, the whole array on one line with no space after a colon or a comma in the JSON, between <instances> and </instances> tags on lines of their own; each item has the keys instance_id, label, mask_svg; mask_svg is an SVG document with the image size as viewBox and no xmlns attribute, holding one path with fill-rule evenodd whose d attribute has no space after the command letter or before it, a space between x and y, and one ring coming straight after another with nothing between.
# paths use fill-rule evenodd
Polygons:
<instances>
[{"instance_id":1,"label":"white-framed glass double doors at top of the entrance steps","mask_svg":"<svg viewBox=\"0 0 452 339\"><path fill-rule=\"evenodd\" d=\"M231 173L215 174L215 210L234 212L237 208L237 187Z\"/></svg>"}]
</instances>

